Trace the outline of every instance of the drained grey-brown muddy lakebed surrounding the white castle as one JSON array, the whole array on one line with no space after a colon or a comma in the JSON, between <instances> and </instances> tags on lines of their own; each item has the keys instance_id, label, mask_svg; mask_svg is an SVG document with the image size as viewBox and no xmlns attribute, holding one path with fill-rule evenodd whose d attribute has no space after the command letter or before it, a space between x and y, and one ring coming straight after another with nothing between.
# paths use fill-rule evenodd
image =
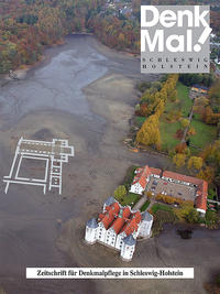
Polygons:
<instances>
[{"instance_id":1,"label":"drained grey-brown muddy lakebed surrounding the white castle","mask_svg":"<svg viewBox=\"0 0 220 294\"><path fill-rule=\"evenodd\" d=\"M9 174L20 137L68 139L75 157L63 170L63 195L41 187L0 189L0 291L7 294L204 293L220 261L219 232L198 229L182 240L169 227L138 243L131 263L102 246L84 243L97 216L132 164L172 168L164 156L132 153L122 140L136 102L139 58L116 53L92 36L73 35L18 81L0 88L1 178ZM25 280L26 266L195 266L193 281ZM2 291L3 291L2 290Z\"/></svg>"}]
</instances>

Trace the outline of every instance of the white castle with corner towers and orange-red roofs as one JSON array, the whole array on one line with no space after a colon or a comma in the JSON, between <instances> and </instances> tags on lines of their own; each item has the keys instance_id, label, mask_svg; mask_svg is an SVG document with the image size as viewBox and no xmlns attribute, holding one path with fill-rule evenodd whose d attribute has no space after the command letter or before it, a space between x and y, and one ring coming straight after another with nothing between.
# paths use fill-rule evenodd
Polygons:
<instances>
[{"instance_id":1,"label":"white castle with corner towers and orange-red roofs","mask_svg":"<svg viewBox=\"0 0 220 294\"><path fill-rule=\"evenodd\" d=\"M150 238L153 216L147 211L132 211L130 206L121 206L113 197L103 204L98 219L91 218L86 225L87 243L100 242L120 251L124 261L132 260L136 238Z\"/></svg>"}]
</instances>

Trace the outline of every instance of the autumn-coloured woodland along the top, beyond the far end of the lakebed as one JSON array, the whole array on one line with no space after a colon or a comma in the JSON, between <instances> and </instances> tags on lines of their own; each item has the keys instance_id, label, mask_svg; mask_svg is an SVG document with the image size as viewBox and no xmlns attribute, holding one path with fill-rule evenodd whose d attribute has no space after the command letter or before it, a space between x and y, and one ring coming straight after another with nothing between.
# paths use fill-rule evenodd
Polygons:
<instances>
[{"instance_id":1,"label":"autumn-coloured woodland along the top, beyond the far end of the lakebed","mask_svg":"<svg viewBox=\"0 0 220 294\"><path fill-rule=\"evenodd\" d=\"M132 13L107 8L106 0L6 0L0 2L0 73L35 63L44 46L73 32L87 31L110 47L140 52L141 0L128 2ZM190 0L150 0L142 4L188 4ZM197 1L199 3L205 2ZM208 1L210 3L210 1ZM120 3L118 6L120 6ZM211 4L218 1L211 1ZM220 34L220 11L213 7L212 28Z\"/></svg>"}]
</instances>

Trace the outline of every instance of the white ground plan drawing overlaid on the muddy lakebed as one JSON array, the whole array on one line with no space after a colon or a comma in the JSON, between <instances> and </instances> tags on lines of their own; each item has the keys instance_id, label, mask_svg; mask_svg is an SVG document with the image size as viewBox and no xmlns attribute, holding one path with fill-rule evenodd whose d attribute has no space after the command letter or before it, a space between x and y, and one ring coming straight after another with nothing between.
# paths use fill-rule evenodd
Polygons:
<instances>
[{"instance_id":1,"label":"white ground plan drawing overlaid on the muddy lakebed","mask_svg":"<svg viewBox=\"0 0 220 294\"><path fill-rule=\"evenodd\" d=\"M21 138L9 176L3 177L7 183L4 193L8 193L9 185L13 183L42 186L44 194L47 189L57 188L61 195L63 163L67 163L69 156L74 156L74 146L68 145L68 140L53 139L52 142L46 142ZM30 164L34 166L32 170L44 171L43 178L42 175L35 178L26 173L25 167Z\"/></svg>"}]
</instances>

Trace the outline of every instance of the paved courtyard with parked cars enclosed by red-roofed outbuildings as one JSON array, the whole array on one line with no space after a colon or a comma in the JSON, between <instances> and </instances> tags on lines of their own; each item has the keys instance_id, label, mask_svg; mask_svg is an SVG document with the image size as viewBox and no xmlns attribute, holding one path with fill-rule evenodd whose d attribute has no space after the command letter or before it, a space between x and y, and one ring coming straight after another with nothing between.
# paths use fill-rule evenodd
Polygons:
<instances>
[{"instance_id":1,"label":"paved courtyard with parked cars enclosed by red-roofed outbuildings","mask_svg":"<svg viewBox=\"0 0 220 294\"><path fill-rule=\"evenodd\" d=\"M196 187L187 186L184 184L170 183L162 178L151 178L147 186L147 192L152 192L153 195L164 194L185 200L195 200Z\"/></svg>"}]
</instances>

